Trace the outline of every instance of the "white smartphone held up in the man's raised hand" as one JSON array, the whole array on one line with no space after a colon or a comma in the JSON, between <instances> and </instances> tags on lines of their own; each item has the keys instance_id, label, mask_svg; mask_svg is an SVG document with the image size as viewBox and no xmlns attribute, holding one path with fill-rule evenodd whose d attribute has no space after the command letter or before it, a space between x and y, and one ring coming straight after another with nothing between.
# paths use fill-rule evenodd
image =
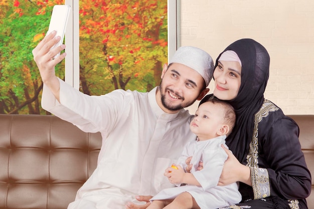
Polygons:
<instances>
[{"instance_id":1,"label":"white smartphone held up in the man's raised hand","mask_svg":"<svg viewBox=\"0 0 314 209\"><path fill-rule=\"evenodd\" d=\"M56 31L56 36L60 36L60 41L55 44L51 49L58 47L63 44L65 29L67 26L69 14L70 14L70 6L69 5L55 5L52 10L49 29L46 34L50 34L52 31ZM57 58L60 55L57 54L54 58Z\"/></svg>"}]
</instances>

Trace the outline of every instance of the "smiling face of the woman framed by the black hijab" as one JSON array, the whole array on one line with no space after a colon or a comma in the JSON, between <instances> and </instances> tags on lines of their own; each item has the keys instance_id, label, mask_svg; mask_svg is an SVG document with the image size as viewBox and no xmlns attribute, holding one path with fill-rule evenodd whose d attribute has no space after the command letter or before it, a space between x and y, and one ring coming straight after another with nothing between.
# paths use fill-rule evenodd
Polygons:
<instances>
[{"instance_id":1,"label":"smiling face of the woman framed by the black hijab","mask_svg":"<svg viewBox=\"0 0 314 209\"><path fill-rule=\"evenodd\" d=\"M232 100L241 85L241 65L236 61L218 61L214 71L214 95L221 100Z\"/></svg>"}]
</instances>

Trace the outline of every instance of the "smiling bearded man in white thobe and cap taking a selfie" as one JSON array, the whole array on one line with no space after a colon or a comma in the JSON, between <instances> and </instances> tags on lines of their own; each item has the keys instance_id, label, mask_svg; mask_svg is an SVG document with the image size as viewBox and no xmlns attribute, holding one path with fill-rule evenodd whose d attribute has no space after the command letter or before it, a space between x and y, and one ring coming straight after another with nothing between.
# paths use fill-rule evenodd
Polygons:
<instances>
[{"instance_id":1,"label":"smiling bearded man in white thobe and cap taking a selfie","mask_svg":"<svg viewBox=\"0 0 314 209\"><path fill-rule=\"evenodd\" d=\"M48 35L33 50L44 82L42 107L86 132L101 132L103 141L94 173L68 208L124 208L135 195L154 195L173 186L165 169L195 140L193 116L184 107L202 99L213 75L213 60L195 47L181 47L162 82L150 92L115 90L102 96L85 95L56 77L55 65L65 53L60 37Z\"/></svg>"}]
</instances>

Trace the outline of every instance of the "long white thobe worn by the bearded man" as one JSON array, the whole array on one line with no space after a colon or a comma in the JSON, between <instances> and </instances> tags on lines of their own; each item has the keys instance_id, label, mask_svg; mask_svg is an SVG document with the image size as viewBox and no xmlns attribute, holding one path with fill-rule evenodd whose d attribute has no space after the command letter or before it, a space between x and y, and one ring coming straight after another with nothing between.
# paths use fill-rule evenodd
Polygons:
<instances>
[{"instance_id":1,"label":"long white thobe worn by the bearded man","mask_svg":"<svg viewBox=\"0 0 314 209\"><path fill-rule=\"evenodd\" d=\"M172 187L165 169L196 139L187 110L165 113L150 92L88 96L60 80L60 103L44 85L42 107L85 132L101 132L97 168L68 208L125 208L134 196Z\"/></svg>"}]
</instances>

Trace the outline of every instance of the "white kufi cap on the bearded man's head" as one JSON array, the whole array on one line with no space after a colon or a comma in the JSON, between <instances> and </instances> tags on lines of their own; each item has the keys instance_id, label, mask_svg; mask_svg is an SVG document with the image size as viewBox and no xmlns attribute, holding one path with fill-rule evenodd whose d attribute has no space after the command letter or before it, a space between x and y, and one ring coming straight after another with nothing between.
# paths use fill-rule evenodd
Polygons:
<instances>
[{"instance_id":1,"label":"white kufi cap on the bearded man's head","mask_svg":"<svg viewBox=\"0 0 314 209\"><path fill-rule=\"evenodd\" d=\"M206 87L213 78L213 59L207 52L199 48L190 46L180 47L169 64L171 63L183 64L201 74L204 78Z\"/></svg>"}]
</instances>

